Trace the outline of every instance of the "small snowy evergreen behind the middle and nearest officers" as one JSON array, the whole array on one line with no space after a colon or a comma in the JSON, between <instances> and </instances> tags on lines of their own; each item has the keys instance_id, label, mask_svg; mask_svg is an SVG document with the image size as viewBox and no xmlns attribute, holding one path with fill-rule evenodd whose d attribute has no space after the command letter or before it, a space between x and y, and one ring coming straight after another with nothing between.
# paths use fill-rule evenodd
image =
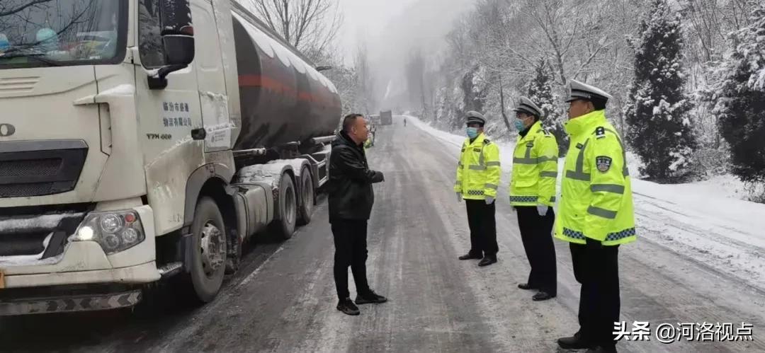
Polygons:
<instances>
[{"instance_id":1,"label":"small snowy evergreen behind the middle and nearest officers","mask_svg":"<svg viewBox=\"0 0 765 353\"><path fill-rule=\"evenodd\" d=\"M563 129L563 114L558 109L560 104L555 102L555 96L552 94L552 75L547 61L539 60L534 79L529 83L528 97L542 108L542 126L555 135L559 155L563 157L568 151L568 134Z\"/></svg>"}]
</instances>

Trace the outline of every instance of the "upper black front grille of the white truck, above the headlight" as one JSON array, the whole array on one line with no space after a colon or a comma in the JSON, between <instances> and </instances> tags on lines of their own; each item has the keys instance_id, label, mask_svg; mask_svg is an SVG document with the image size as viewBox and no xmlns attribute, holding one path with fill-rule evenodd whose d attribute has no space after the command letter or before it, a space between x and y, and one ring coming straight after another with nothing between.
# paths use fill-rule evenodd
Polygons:
<instances>
[{"instance_id":1,"label":"upper black front grille of the white truck, above the headlight","mask_svg":"<svg viewBox=\"0 0 765 353\"><path fill-rule=\"evenodd\" d=\"M0 198L73 190L87 152L81 140L0 142Z\"/></svg>"}]
</instances>

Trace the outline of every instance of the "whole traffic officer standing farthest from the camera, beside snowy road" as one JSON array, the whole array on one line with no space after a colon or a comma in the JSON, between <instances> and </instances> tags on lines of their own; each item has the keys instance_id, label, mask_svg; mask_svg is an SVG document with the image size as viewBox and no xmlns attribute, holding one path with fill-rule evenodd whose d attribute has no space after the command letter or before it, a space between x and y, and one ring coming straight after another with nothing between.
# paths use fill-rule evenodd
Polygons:
<instances>
[{"instance_id":1,"label":"whole traffic officer standing farthest from the camera, beside snowy road","mask_svg":"<svg viewBox=\"0 0 765 353\"><path fill-rule=\"evenodd\" d=\"M457 201L465 199L470 226L470 251L460 260L481 259L478 266L496 262L496 189L500 186L500 149L483 134L486 118L467 112L467 139L457 164Z\"/></svg>"}]
</instances>

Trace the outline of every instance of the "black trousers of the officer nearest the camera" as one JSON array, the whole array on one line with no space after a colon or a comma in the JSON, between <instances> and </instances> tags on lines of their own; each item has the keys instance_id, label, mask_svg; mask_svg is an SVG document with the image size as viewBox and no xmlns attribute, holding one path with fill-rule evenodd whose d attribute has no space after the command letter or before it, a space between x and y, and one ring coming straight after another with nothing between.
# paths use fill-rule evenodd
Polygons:
<instances>
[{"instance_id":1,"label":"black trousers of the officer nearest the camera","mask_svg":"<svg viewBox=\"0 0 765 353\"><path fill-rule=\"evenodd\" d=\"M619 321L619 246L600 249L571 243L574 277L581 283L579 333L597 345L616 345L614 322Z\"/></svg>"}]
</instances>

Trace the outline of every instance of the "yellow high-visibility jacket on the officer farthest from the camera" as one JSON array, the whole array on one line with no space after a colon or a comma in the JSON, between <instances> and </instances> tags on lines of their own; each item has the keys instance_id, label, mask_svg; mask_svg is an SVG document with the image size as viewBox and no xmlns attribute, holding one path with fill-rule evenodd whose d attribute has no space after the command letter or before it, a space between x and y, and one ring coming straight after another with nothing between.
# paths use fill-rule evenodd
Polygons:
<instances>
[{"instance_id":1,"label":"yellow high-visibility jacket on the officer farthest from the camera","mask_svg":"<svg viewBox=\"0 0 765 353\"><path fill-rule=\"evenodd\" d=\"M496 199L500 187L500 148L484 134L470 143L462 144L462 154L457 164L457 183L454 191L462 193L463 199Z\"/></svg>"}]
</instances>

